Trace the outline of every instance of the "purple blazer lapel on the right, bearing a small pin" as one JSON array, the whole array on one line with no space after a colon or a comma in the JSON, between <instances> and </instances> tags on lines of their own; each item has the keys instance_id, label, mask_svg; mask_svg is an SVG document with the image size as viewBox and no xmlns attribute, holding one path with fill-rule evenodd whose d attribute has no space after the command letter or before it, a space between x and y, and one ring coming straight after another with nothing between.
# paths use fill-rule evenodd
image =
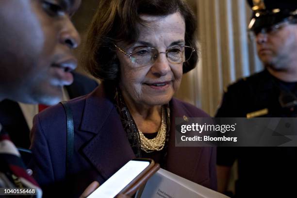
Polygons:
<instances>
[{"instance_id":1,"label":"purple blazer lapel on the right, bearing a small pin","mask_svg":"<svg viewBox=\"0 0 297 198\"><path fill-rule=\"evenodd\" d=\"M175 146L175 118L191 117L193 115L183 107L183 104L177 99L170 102L170 132L167 152L166 168L168 171L175 173L183 178L194 180L193 174L201 157L201 147L176 147ZM178 158L177 158L178 156Z\"/></svg>"}]
</instances>

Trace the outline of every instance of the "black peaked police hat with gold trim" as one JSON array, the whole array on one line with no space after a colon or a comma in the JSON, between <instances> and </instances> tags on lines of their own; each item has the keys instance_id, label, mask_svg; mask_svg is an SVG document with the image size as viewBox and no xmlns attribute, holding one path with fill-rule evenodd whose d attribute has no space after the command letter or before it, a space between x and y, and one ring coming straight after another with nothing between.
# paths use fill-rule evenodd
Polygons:
<instances>
[{"instance_id":1,"label":"black peaked police hat with gold trim","mask_svg":"<svg viewBox=\"0 0 297 198\"><path fill-rule=\"evenodd\" d=\"M262 29L284 20L297 21L297 0L247 0L253 10L249 30ZM295 21L295 22L296 22Z\"/></svg>"}]
</instances>

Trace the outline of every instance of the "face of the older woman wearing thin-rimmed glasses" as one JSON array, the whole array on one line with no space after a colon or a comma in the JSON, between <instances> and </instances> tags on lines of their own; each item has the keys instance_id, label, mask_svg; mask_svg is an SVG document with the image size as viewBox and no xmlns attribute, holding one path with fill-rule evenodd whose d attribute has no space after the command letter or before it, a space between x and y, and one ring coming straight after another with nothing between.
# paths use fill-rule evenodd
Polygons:
<instances>
[{"instance_id":1,"label":"face of the older woman wearing thin-rimmed glasses","mask_svg":"<svg viewBox=\"0 0 297 198\"><path fill-rule=\"evenodd\" d=\"M149 27L140 26L138 41L133 46L120 46L127 52L142 47L159 51L184 45L185 22L180 13L168 16L142 16L150 21ZM125 54L117 51L120 61L120 88L124 97L148 106L162 105L169 102L179 89L182 77L182 63L168 62L165 53L159 54L154 63L136 66Z\"/></svg>"}]
</instances>

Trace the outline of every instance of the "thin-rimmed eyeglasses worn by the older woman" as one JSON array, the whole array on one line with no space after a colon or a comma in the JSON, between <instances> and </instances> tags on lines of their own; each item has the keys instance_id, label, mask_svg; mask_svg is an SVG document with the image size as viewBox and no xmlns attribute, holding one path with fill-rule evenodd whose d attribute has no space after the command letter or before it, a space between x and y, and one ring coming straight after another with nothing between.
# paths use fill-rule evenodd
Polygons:
<instances>
[{"instance_id":1,"label":"thin-rimmed eyeglasses worn by the older woman","mask_svg":"<svg viewBox=\"0 0 297 198\"><path fill-rule=\"evenodd\" d=\"M191 58L193 52L195 51L192 47L177 45L166 49L166 51L158 51L158 49L155 48L140 47L127 53L116 45L115 47L128 56L136 67L154 64L161 53L165 53L167 60L172 64L184 63Z\"/></svg>"}]
</instances>

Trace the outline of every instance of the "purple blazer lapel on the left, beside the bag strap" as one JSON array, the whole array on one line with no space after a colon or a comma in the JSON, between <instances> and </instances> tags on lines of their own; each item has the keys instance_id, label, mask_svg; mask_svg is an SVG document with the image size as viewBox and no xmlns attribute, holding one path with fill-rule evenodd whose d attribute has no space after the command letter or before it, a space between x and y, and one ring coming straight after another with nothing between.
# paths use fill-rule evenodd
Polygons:
<instances>
[{"instance_id":1,"label":"purple blazer lapel on the left, beside the bag strap","mask_svg":"<svg viewBox=\"0 0 297 198\"><path fill-rule=\"evenodd\" d=\"M102 89L100 86L86 99L81 130L95 135L82 152L107 180L135 155L116 108Z\"/></svg>"}]
</instances>

